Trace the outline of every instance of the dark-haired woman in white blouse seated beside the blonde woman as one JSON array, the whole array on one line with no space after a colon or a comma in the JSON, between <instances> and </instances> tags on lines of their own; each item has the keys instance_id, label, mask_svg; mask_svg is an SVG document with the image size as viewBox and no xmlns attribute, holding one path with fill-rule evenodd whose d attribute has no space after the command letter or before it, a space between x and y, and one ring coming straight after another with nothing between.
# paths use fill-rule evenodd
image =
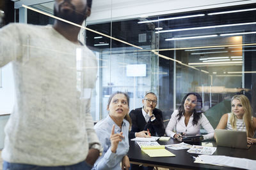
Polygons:
<instances>
[{"instance_id":1,"label":"dark-haired woman in white blouse seated beside the blonde woman","mask_svg":"<svg viewBox=\"0 0 256 170\"><path fill-rule=\"evenodd\" d=\"M208 134L203 135L205 139L211 139L214 136L214 129L201 111L202 98L196 92L186 94L182 99L179 110L172 113L172 118L168 123L165 133L172 138L180 138L180 133L186 136L200 134L200 126L204 127ZM176 133L173 132L174 127Z\"/></svg>"}]
</instances>

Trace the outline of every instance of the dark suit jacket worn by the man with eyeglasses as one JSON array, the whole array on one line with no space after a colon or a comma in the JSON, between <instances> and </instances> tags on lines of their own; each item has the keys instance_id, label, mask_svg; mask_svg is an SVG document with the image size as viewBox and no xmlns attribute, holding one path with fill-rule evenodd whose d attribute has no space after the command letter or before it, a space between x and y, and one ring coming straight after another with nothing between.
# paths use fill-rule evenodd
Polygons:
<instances>
[{"instance_id":1,"label":"dark suit jacket worn by the man with eyeglasses","mask_svg":"<svg viewBox=\"0 0 256 170\"><path fill-rule=\"evenodd\" d=\"M156 136L156 133L158 136L164 136L165 130L162 111L155 108L153 114L156 119L153 122L150 119L146 122L142 114L142 108L137 108L129 113L132 119L132 129L129 132L130 139L135 138L135 132L147 131L147 129L150 131L151 136Z\"/></svg>"}]
</instances>

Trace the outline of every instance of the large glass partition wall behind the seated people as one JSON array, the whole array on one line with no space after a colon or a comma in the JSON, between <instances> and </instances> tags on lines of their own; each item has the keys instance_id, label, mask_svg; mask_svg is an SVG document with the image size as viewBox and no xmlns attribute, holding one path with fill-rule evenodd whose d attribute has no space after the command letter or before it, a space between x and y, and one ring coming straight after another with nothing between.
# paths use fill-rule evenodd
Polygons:
<instances>
[{"instance_id":1,"label":"large glass partition wall behind the seated people","mask_svg":"<svg viewBox=\"0 0 256 170\"><path fill-rule=\"evenodd\" d=\"M53 3L31 7L52 13ZM81 34L99 59L94 120L106 117L108 97L117 90L129 94L131 110L142 106L145 92L156 93L164 120L188 92L202 96L203 110L213 127L230 111L234 94L250 99L255 116L255 8L250 4L87 24L108 35ZM43 16L28 12L28 23L52 24L51 17Z\"/></svg>"}]
</instances>

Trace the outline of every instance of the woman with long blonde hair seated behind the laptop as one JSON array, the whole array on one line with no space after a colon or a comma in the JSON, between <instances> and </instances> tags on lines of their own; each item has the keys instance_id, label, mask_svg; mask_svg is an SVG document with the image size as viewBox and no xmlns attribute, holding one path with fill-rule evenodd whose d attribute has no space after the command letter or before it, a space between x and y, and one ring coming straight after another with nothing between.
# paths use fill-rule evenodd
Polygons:
<instances>
[{"instance_id":1,"label":"woman with long blonde hair seated behind the laptop","mask_svg":"<svg viewBox=\"0 0 256 170\"><path fill-rule=\"evenodd\" d=\"M216 129L246 131L247 143L256 143L252 138L256 130L256 118L252 117L251 104L244 95L235 95L231 99L231 113L226 113L220 119Z\"/></svg>"}]
</instances>

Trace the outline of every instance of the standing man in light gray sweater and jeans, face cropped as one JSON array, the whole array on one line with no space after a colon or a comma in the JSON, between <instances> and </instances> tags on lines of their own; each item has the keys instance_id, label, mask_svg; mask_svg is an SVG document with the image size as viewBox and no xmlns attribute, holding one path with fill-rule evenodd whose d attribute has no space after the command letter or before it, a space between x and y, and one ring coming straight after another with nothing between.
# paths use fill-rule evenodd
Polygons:
<instances>
[{"instance_id":1,"label":"standing man in light gray sweater and jeans, face cropped","mask_svg":"<svg viewBox=\"0 0 256 170\"><path fill-rule=\"evenodd\" d=\"M54 15L81 25L92 0L56 0ZM15 106L4 129L3 169L91 169L100 145L90 99L95 55L80 27L9 24L0 29L0 67L12 63Z\"/></svg>"}]
</instances>

